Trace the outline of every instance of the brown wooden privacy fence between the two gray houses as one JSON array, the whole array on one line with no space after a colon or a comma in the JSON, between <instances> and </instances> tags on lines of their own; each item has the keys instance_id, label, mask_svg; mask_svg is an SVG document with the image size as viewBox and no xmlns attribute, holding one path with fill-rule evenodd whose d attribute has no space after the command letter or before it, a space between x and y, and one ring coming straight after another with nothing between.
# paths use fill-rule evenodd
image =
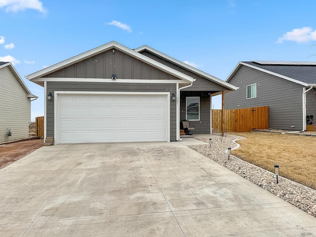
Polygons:
<instances>
[{"instance_id":1,"label":"brown wooden privacy fence between the two gray houses","mask_svg":"<svg viewBox=\"0 0 316 237\"><path fill-rule=\"evenodd\" d=\"M222 110L212 110L213 132L223 131ZM249 132L269 128L269 106L224 110L224 130Z\"/></svg>"}]
</instances>

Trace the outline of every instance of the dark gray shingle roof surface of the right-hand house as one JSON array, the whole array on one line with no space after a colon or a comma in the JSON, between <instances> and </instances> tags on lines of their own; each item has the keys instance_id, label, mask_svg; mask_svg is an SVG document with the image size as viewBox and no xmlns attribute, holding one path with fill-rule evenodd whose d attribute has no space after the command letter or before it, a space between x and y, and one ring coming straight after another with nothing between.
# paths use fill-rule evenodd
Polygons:
<instances>
[{"instance_id":1,"label":"dark gray shingle roof surface of the right-hand house","mask_svg":"<svg viewBox=\"0 0 316 237\"><path fill-rule=\"evenodd\" d=\"M254 62L243 63L305 83L316 84L316 65L264 65Z\"/></svg>"}]
</instances>

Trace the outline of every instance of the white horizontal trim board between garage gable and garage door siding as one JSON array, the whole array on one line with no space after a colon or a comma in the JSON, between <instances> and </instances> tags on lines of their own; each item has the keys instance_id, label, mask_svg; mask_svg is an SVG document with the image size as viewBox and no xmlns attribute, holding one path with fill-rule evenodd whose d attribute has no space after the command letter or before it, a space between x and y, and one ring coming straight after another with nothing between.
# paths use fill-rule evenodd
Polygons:
<instances>
[{"instance_id":1,"label":"white horizontal trim board between garage gable and garage door siding","mask_svg":"<svg viewBox=\"0 0 316 237\"><path fill-rule=\"evenodd\" d=\"M181 79L103 79L103 78L38 78L35 81L113 82L113 83L188 83Z\"/></svg>"}]
</instances>

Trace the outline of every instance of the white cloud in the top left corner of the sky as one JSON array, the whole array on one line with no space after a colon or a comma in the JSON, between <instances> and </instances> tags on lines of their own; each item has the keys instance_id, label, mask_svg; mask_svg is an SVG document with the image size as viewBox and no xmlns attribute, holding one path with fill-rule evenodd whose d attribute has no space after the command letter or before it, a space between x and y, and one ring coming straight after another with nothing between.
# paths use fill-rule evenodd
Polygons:
<instances>
[{"instance_id":1,"label":"white cloud in the top left corner of the sky","mask_svg":"<svg viewBox=\"0 0 316 237\"><path fill-rule=\"evenodd\" d=\"M41 13L46 13L46 9L40 0L0 0L0 7L6 7L5 12L23 11L25 9L35 9Z\"/></svg>"}]
</instances>

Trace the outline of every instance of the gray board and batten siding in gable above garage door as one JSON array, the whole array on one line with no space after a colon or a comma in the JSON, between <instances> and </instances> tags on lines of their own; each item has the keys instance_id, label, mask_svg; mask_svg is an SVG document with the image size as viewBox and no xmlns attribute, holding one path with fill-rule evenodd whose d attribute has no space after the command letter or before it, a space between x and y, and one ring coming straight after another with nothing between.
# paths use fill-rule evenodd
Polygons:
<instances>
[{"instance_id":1,"label":"gray board and batten siding in gable above garage door","mask_svg":"<svg viewBox=\"0 0 316 237\"><path fill-rule=\"evenodd\" d=\"M48 78L178 79L117 49L94 55L46 75Z\"/></svg>"}]
</instances>

